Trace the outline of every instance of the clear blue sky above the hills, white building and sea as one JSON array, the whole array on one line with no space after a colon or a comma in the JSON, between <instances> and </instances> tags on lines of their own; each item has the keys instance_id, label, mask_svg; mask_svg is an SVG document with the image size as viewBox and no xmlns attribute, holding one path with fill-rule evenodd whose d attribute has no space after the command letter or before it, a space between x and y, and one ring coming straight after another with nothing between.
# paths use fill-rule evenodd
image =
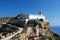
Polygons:
<instances>
[{"instance_id":1,"label":"clear blue sky above the hills, white building and sea","mask_svg":"<svg viewBox=\"0 0 60 40\"><path fill-rule=\"evenodd\" d=\"M0 17L39 14L39 11L50 26L60 26L60 0L0 0Z\"/></svg>"}]
</instances>

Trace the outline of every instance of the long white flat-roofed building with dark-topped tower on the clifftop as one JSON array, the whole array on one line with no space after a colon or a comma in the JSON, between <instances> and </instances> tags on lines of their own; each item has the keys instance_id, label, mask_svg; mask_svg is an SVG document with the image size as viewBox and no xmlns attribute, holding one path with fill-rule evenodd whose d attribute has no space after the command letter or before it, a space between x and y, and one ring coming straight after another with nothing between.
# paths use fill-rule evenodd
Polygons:
<instances>
[{"instance_id":1,"label":"long white flat-roofed building with dark-topped tower on the clifftop","mask_svg":"<svg viewBox=\"0 0 60 40\"><path fill-rule=\"evenodd\" d=\"M45 20L45 16L42 15L41 12L39 13L39 15L29 14L23 17L23 19L26 19L26 20L41 19L41 18Z\"/></svg>"}]
</instances>

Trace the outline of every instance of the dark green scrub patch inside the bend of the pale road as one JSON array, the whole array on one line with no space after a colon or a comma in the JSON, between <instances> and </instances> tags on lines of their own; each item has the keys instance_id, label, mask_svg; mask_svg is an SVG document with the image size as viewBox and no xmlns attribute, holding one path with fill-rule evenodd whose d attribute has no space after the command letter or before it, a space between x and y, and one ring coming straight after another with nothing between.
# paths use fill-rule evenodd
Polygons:
<instances>
[{"instance_id":1,"label":"dark green scrub patch inside the bend of the pale road","mask_svg":"<svg viewBox=\"0 0 60 40\"><path fill-rule=\"evenodd\" d=\"M3 35L6 35L8 33L17 32L17 28L15 27L9 27L7 24L4 24L2 28L0 28L0 33L3 33Z\"/></svg>"}]
</instances>

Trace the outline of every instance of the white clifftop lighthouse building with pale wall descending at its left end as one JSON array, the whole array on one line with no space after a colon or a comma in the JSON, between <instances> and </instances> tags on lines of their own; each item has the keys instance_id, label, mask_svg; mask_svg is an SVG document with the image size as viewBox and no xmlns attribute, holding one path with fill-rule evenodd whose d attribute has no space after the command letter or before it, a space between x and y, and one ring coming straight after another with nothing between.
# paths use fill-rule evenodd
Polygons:
<instances>
[{"instance_id":1,"label":"white clifftop lighthouse building with pale wall descending at its left end","mask_svg":"<svg viewBox=\"0 0 60 40\"><path fill-rule=\"evenodd\" d=\"M29 20L37 20L37 19L40 20L40 19L43 19L43 21L45 21L45 16L42 14L42 12L39 12L38 15L37 14L28 14L27 16L23 16L22 19L24 19L26 21L25 24L27 24L27 22Z\"/></svg>"}]
</instances>

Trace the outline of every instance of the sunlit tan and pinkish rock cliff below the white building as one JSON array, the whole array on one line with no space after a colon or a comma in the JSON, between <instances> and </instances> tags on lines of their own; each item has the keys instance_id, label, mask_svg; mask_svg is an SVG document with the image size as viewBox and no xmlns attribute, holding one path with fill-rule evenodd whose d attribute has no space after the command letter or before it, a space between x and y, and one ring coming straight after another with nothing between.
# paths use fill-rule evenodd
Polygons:
<instances>
[{"instance_id":1,"label":"sunlit tan and pinkish rock cliff below the white building","mask_svg":"<svg viewBox=\"0 0 60 40\"><path fill-rule=\"evenodd\" d=\"M49 30L49 23L47 21L39 22L42 27L36 25L35 27L27 27L22 31L20 40L59 40Z\"/></svg>"}]
</instances>

